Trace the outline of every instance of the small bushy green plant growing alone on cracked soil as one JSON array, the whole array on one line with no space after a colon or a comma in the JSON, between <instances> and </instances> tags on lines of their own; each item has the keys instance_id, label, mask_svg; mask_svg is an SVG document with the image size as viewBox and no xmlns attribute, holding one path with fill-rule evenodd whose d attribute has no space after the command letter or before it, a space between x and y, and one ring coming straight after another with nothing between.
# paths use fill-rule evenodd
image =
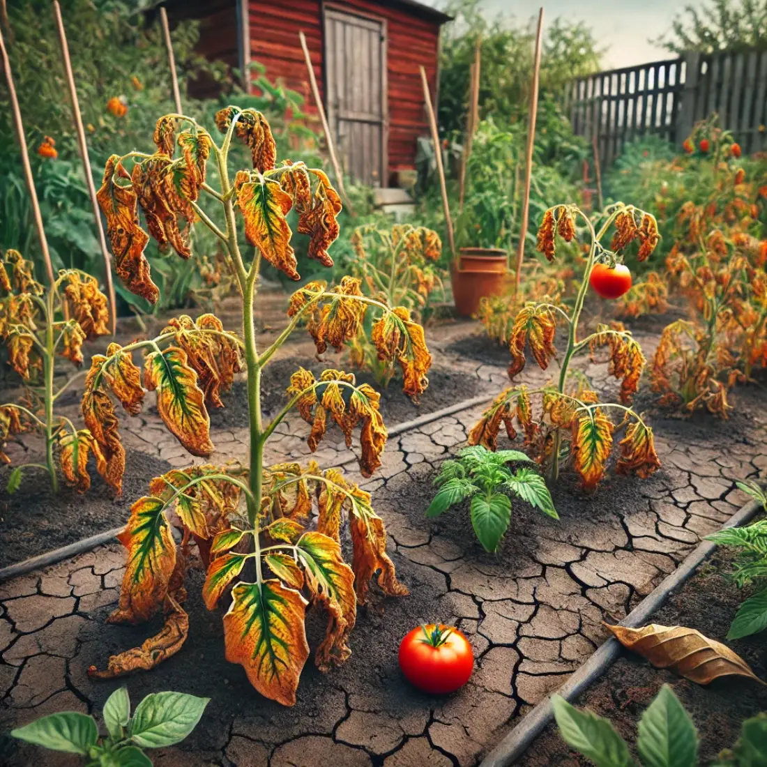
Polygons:
<instances>
[{"instance_id":1,"label":"small bushy green plant growing alone on cracked soil","mask_svg":"<svg viewBox=\"0 0 767 767\"><path fill-rule=\"evenodd\" d=\"M509 463L522 464L513 471ZM439 490L427 517L436 517L451 506L471 499L472 527L485 551L497 551L512 521L509 495L527 501L545 515L559 518L543 477L530 459L518 450L466 447L455 460L443 461L434 484Z\"/></svg>"}]
</instances>

